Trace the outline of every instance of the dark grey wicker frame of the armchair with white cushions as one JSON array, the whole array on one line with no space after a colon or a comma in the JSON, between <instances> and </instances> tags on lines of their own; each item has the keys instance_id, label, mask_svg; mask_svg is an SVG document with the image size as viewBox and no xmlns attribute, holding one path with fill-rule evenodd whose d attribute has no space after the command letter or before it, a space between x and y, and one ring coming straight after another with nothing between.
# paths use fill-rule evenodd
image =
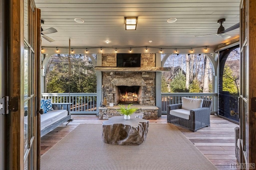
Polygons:
<instances>
[{"instance_id":1,"label":"dark grey wicker frame of the armchair with white cushions","mask_svg":"<svg viewBox=\"0 0 256 170\"><path fill-rule=\"evenodd\" d=\"M190 110L190 119L183 119L174 115L170 115L170 110L181 109L182 104L172 104L167 107L167 122L175 123L188 127L192 132L196 132L202 127L210 126L210 108L212 106L211 100L203 100L201 108Z\"/></svg>"}]
</instances>

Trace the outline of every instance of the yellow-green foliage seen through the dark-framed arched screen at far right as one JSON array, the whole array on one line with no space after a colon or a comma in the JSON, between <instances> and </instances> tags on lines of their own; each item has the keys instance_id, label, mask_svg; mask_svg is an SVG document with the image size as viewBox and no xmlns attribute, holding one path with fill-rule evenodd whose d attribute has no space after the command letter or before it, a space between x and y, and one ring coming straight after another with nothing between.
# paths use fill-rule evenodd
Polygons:
<instances>
[{"instance_id":1,"label":"yellow-green foliage seen through the dark-framed arched screen at far right","mask_svg":"<svg viewBox=\"0 0 256 170\"><path fill-rule=\"evenodd\" d=\"M222 90L228 91L230 92L231 95L237 96L238 89L236 88L236 78L232 75L232 70L230 69L229 66L225 65L222 80Z\"/></svg>"}]
</instances>

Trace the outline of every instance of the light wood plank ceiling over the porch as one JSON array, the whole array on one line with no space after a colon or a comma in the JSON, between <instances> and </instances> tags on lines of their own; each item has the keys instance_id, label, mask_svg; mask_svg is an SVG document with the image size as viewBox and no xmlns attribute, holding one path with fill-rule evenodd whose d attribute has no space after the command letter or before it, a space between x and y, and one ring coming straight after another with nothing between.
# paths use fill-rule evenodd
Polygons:
<instances>
[{"instance_id":1,"label":"light wood plank ceiling over the porch","mask_svg":"<svg viewBox=\"0 0 256 170\"><path fill-rule=\"evenodd\" d=\"M216 47L239 36L239 28L224 40L217 21L226 18L225 29L239 22L240 0L35 0L44 20L54 27L54 39L42 38L44 47ZM125 30L124 17L138 16L136 30ZM84 23L76 23L81 18ZM177 18L168 23L169 18ZM152 43L148 42L152 40ZM106 41L109 41L107 44Z\"/></svg>"}]
</instances>

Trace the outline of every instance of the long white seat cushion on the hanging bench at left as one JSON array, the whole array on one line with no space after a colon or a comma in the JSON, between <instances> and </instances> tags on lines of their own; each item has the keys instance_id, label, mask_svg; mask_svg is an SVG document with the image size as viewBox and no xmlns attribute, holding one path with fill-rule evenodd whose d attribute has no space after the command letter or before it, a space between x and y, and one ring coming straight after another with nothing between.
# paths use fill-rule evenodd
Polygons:
<instances>
[{"instance_id":1,"label":"long white seat cushion on the hanging bench at left","mask_svg":"<svg viewBox=\"0 0 256 170\"><path fill-rule=\"evenodd\" d=\"M52 110L41 115L41 130L68 115L67 110Z\"/></svg>"}]
</instances>

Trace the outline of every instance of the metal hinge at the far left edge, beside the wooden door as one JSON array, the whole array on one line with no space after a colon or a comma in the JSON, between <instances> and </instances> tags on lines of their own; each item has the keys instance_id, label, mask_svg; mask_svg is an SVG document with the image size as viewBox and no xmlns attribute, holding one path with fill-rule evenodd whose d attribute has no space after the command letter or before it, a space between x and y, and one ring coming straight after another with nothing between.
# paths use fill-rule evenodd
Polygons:
<instances>
[{"instance_id":1,"label":"metal hinge at the far left edge, beside the wooden door","mask_svg":"<svg viewBox=\"0 0 256 170\"><path fill-rule=\"evenodd\" d=\"M18 98L12 97L11 100L9 100L9 96L0 98L0 115L14 111L18 111Z\"/></svg>"}]
</instances>

